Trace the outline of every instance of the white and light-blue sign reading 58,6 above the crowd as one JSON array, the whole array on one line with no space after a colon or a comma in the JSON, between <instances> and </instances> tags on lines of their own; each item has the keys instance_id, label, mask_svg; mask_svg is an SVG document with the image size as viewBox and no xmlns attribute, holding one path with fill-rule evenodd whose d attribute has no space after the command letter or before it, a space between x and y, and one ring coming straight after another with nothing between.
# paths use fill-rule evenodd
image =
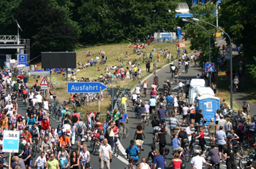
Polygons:
<instances>
[{"instance_id":1,"label":"white and light-blue sign reading 58,6 above the crowd","mask_svg":"<svg viewBox=\"0 0 256 169\"><path fill-rule=\"evenodd\" d=\"M18 152L19 140L20 140L20 131L4 130L3 152Z\"/></svg>"}]
</instances>

